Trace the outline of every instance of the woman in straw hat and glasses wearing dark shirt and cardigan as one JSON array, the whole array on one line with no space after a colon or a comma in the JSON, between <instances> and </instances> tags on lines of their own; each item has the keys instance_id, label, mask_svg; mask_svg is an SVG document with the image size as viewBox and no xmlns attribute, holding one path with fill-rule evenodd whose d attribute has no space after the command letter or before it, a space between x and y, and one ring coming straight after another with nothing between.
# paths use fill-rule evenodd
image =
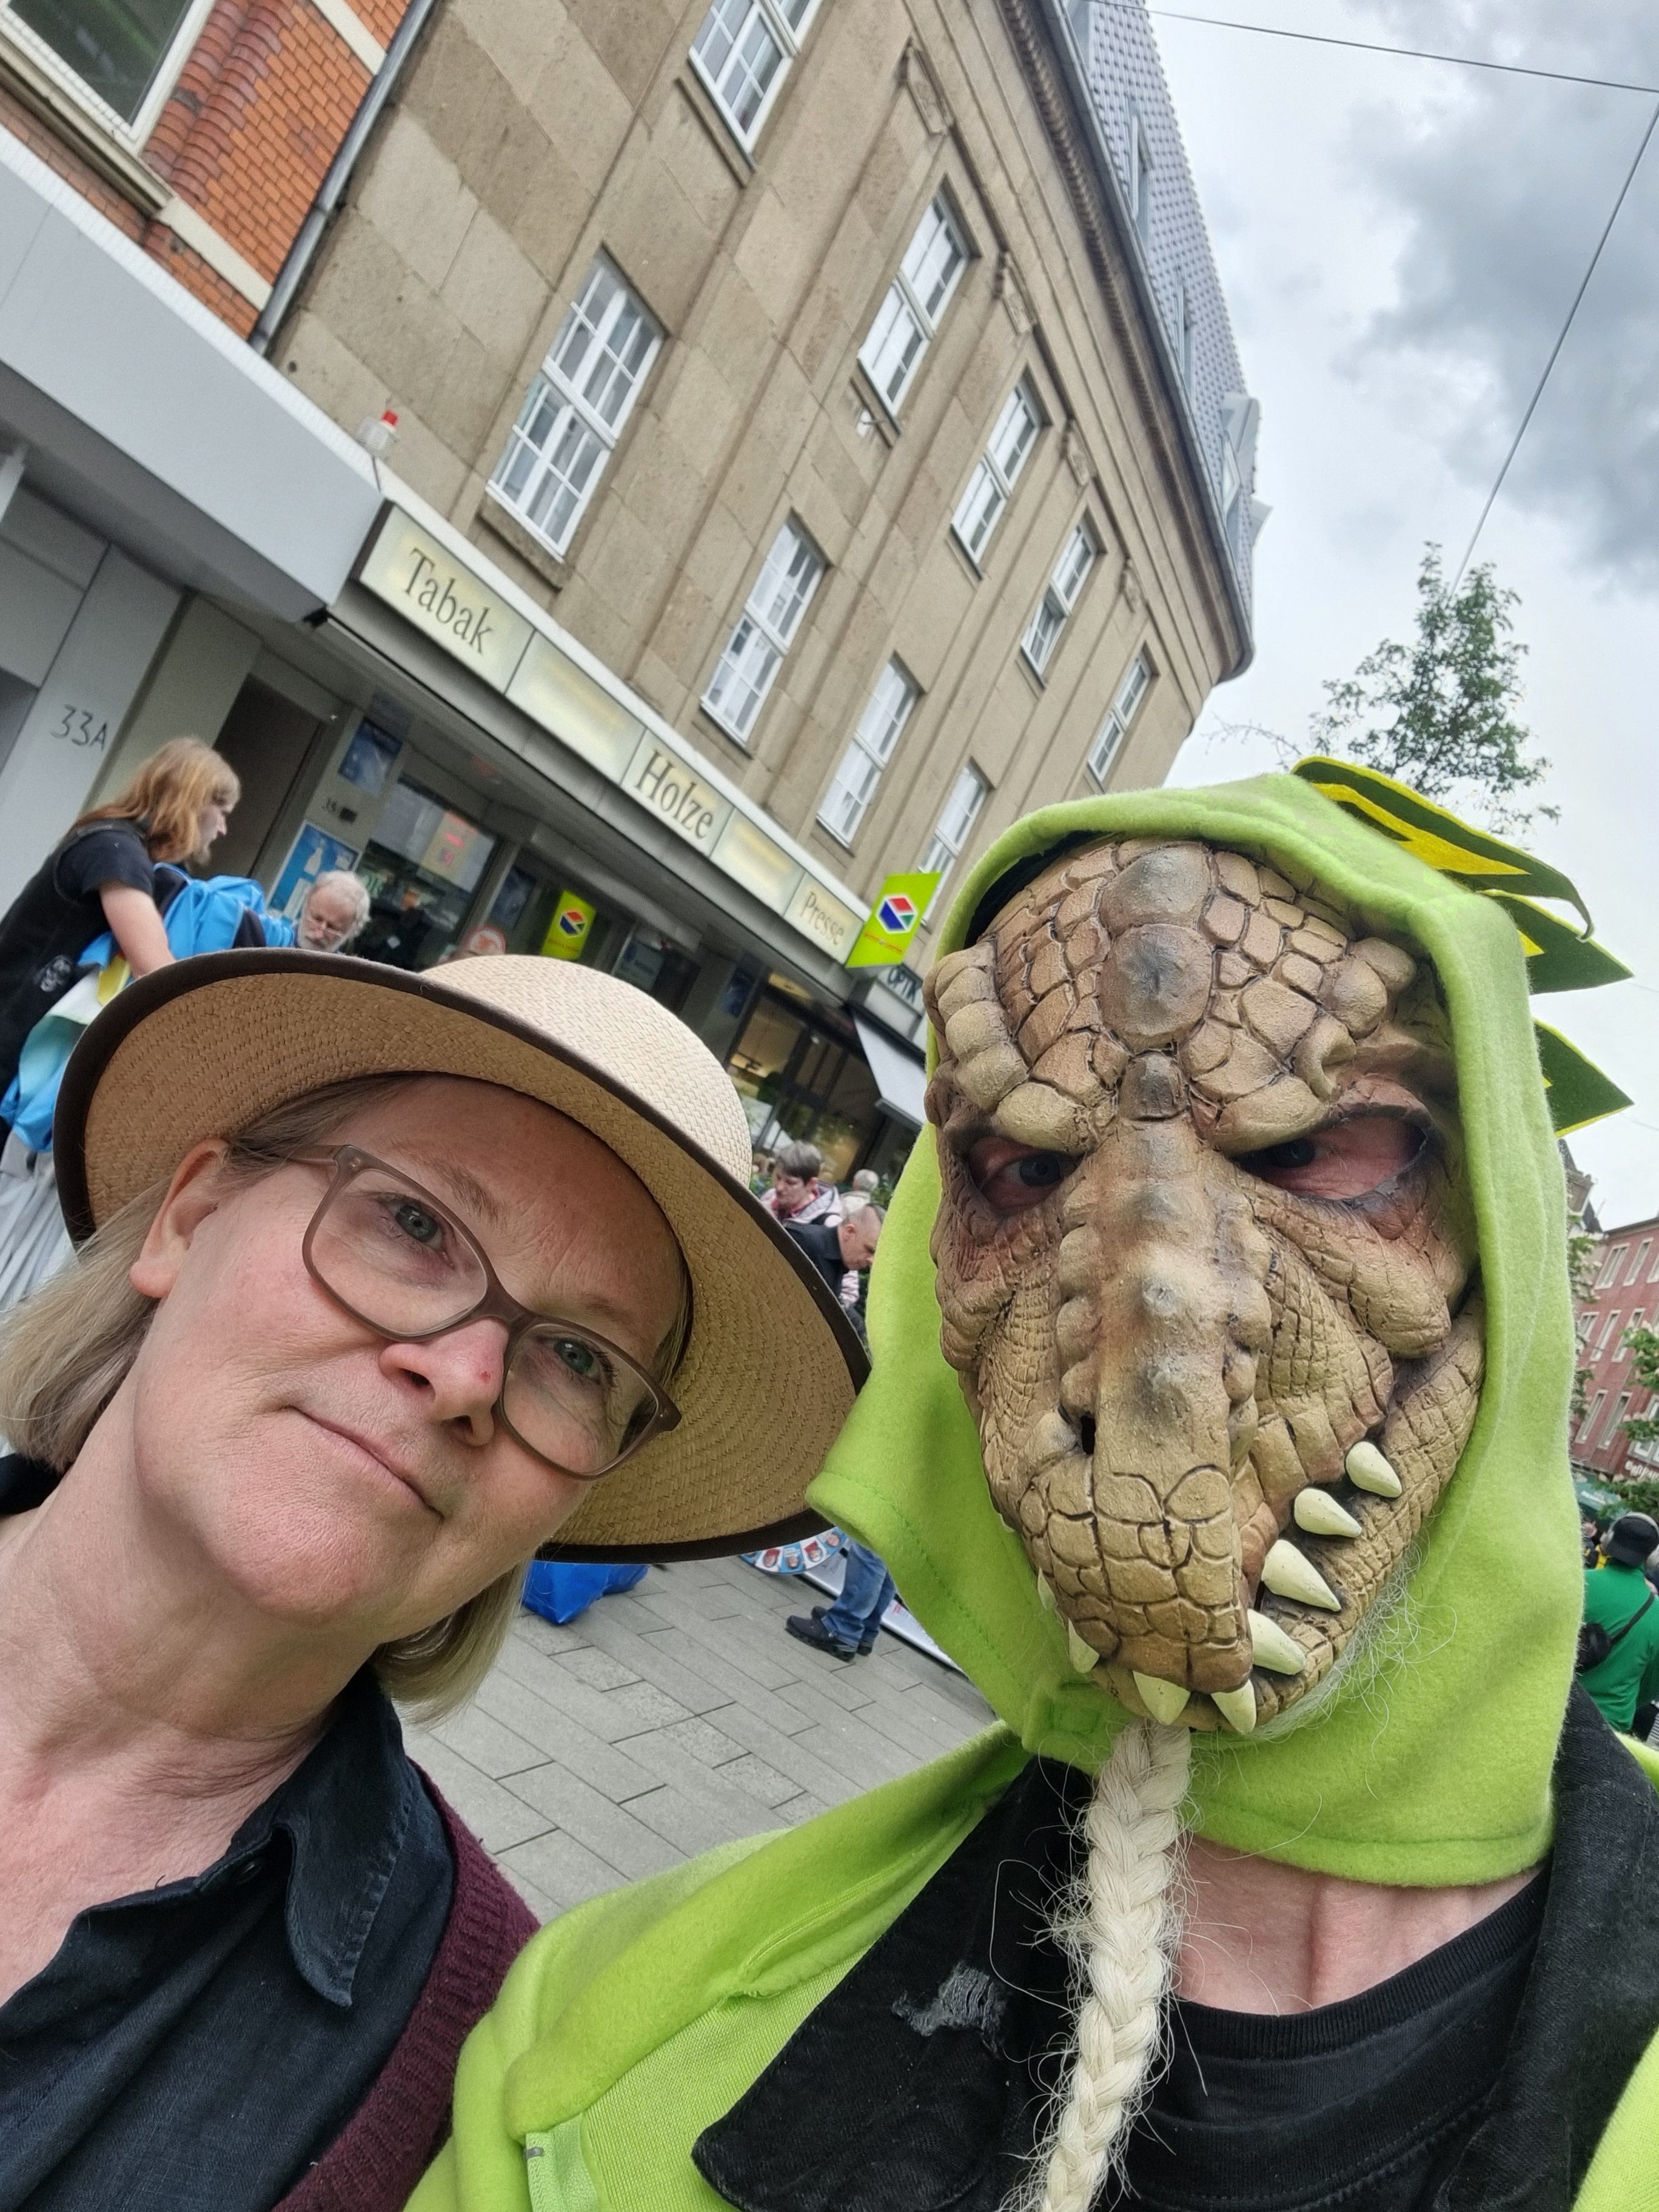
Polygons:
<instances>
[{"instance_id":1,"label":"woman in straw hat and glasses wearing dark shirt and cardigan","mask_svg":"<svg viewBox=\"0 0 1659 2212\"><path fill-rule=\"evenodd\" d=\"M71 1062L0 1340L0 2205L374 2212L531 1929L409 1765L524 1562L752 1548L860 1354L719 1064L588 969L299 951Z\"/></svg>"}]
</instances>

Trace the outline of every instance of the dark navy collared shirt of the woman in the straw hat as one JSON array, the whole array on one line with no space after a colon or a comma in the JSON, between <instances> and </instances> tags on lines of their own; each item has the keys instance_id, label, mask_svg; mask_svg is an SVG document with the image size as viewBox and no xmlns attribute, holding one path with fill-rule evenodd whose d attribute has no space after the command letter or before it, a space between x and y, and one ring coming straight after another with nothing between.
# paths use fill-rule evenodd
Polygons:
<instances>
[{"instance_id":1,"label":"dark navy collared shirt of the woman in the straw hat","mask_svg":"<svg viewBox=\"0 0 1659 2212\"><path fill-rule=\"evenodd\" d=\"M0 1460L0 1515L53 1480ZM451 1889L365 1670L221 1858L80 1913L0 2004L0 2212L270 2212L398 2042Z\"/></svg>"}]
</instances>

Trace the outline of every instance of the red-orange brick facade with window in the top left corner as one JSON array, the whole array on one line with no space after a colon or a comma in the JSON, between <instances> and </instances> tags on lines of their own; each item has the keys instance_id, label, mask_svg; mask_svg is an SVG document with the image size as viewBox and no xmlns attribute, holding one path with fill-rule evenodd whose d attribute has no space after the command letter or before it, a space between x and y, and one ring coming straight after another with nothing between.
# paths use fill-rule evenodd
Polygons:
<instances>
[{"instance_id":1,"label":"red-orange brick facade with window in the top left corner","mask_svg":"<svg viewBox=\"0 0 1659 2212\"><path fill-rule=\"evenodd\" d=\"M239 336L409 0L0 0L0 128Z\"/></svg>"}]
</instances>

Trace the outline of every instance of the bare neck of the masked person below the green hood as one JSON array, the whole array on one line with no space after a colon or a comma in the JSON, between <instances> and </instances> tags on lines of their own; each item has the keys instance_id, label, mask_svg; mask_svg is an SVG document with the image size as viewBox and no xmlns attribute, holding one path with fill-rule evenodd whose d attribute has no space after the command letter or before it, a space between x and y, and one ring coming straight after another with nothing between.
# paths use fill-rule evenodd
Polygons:
<instances>
[{"instance_id":1,"label":"bare neck of the masked person below the green hood","mask_svg":"<svg viewBox=\"0 0 1659 2212\"><path fill-rule=\"evenodd\" d=\"M1462 1936L1528 1880L1385 1889L1194 1838L1175 1991L1228 2013L1340 2004Z\"/></svg>"}]
</instances>

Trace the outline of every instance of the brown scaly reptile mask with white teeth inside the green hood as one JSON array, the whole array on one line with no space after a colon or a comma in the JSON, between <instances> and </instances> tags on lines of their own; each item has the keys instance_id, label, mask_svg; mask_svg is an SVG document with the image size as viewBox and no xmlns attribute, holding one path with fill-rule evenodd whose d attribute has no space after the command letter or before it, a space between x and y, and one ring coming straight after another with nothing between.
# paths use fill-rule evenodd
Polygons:
<instances>
[{"instance_id":1,"label":"brown scaly reptile mask with white teeth inside the green hood","mask_svg":"<svg viewBox=\"0 0 1659 2212\"><path fill-rule=\"evenodd\" d=\"M1469 1440L1482 1325L1433 978L1274 869L1091 845L927 984L942 1347L991 1495L1135 1712L1250 1734Z\"/></svg>"}]
</instances>

